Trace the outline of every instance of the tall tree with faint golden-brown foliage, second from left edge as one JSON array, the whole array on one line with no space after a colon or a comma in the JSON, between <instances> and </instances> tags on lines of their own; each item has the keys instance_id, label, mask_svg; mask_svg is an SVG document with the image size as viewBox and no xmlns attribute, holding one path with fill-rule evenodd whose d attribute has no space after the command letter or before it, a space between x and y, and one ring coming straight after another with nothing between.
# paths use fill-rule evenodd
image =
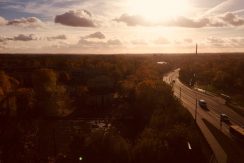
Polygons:
<instances>
[{"instance_id":1,"label":"tall tree with faint golden-brown foliage, second from left edge","mask_svg":"<svg viewBox=\"0 0 244 163\"><path fill-rule=\"evenodd\" d=\"M51 69L40 69L33 74L37 107L45 116L67 116L73 108L66 88L57 84L57 75Z\"/></svg>"}]
</instances>

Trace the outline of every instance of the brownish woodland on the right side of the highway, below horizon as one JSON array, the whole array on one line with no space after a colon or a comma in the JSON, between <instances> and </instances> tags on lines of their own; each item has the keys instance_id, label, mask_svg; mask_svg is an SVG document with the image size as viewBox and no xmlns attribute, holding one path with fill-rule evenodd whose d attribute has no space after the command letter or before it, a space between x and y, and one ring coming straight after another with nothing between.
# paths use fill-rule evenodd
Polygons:
<instances>
[{"instance_id":1,"label":"brownish woodland on the right side of the highway, below horizon","mask_svg":"<svg viewBox=\"0 0 244 163\"><path fill-rule=\"evenodd\" d=\"M180 79L184 83L230 95L244 106L244 55L192 55L180 67Z\"/></svg>"}]
</instances>

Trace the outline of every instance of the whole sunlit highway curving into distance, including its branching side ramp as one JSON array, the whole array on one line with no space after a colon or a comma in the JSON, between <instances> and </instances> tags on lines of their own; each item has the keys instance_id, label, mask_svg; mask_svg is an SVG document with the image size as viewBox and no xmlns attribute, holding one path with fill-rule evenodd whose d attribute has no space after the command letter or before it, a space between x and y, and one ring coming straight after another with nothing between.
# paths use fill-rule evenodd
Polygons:
<instances>
[{"instance_id":1,"label":"whole sunlit highway curving into distance, including its branching side ramp","mask_svg":"<svg viewBox=\"0 0 244 163\"><path fill-rule=\"evenodd\" d=\"M225 100L221 97L194 90L182 84L178 79L179 70L180 69L176 69L164 76L164 82L172 86L174 95L180 99L183 106L188 109L193 118L196 118L196 123L212 148L217 162L227 162L227 154L207 128L203 119L210 122L216 128L220 129L226 136L232 139L229 134L229 126L224 123L220 125L220 114L226 114L232 124L238 124L240 126L244 126L244 118L234 112L231 108L227 107L225 105ZM208 110L205 110L198 105L197 101L200 99L206 101Z\"/></svg>"}]
</instances>

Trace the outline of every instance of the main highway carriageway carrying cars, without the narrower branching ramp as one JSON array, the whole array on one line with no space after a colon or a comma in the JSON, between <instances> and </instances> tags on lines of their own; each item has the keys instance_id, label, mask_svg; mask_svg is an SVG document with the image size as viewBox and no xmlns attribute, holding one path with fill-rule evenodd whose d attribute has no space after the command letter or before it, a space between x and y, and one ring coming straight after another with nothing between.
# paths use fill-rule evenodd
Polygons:
<instances>
[{"instance_id":1,"label":"main highway carriageway carrying cars, without the narrower branching ramp","mask_svg":"<svg viewBox=\"0 0 244 163\"><path fill-rule=\"evenodd\" d=\"M231 108L225 105L225 100L221 97L215 96L213 94L207 94L203 92L199 92L197 90L193 90L184 84L182 84L179 79L179 69L169 73L164 77L164 81L166 83L171 83L173 80L175 81L173 84L174 94L181 98L181 100L188 104L194 105L192 108L195 112L196 109L196 100L203 99L207 102L208 111L202 109L201 107L197 107L197 115L203 116L205 119L209 119L210 122L216 126L220 127L220 114L224 113L228 115L231 123L238 124L240 126L244 126L244 117L234 112ZM181 96L181 97L180 97ZM211 117L211 118L210 118ZM223 126L226 127L225 125ZM227 134L229 135L229 134Z\"/></svg>"}]
</instances>

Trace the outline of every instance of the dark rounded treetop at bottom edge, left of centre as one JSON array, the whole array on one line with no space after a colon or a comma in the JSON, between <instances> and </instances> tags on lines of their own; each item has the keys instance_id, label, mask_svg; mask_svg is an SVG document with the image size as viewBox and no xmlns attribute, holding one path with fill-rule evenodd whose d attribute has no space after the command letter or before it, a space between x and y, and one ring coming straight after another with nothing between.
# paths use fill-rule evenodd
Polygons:
<instances>
[{"instance_id":1,"label":"dark rounded treetop at bottom edge, left of centre","mask_svg":"<svg viewBox=\"0 0 244 163\"><path fill-rule=\"evenodd\" d=\"M130 145L115 131L92 132L85 142L87 162L126 163Z\"/></svg>"}]
</instances>

